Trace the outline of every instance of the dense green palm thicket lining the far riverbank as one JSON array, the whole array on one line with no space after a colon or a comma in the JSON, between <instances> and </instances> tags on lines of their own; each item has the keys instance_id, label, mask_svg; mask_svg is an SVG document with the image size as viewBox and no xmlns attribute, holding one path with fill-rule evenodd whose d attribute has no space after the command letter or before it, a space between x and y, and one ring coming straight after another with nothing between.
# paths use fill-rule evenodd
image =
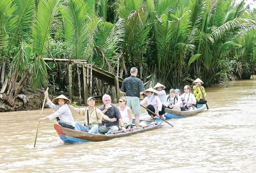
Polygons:
<instances>
[{"instance_id":1,"label":"dense green palm thicket lining the far riverbank","mask_svg":"<svg viewBox=\"0 0 256 173\"><path fill-rule=\"evenodd\" d=\"M144 83L205 86L255 73L255 10L232 0L0 1L0 93L46 87L45 57L83 59ZM118 61L118 59L120 59ZM119 64L118 64L119 62ZM117 68L118 67L118 68ZM50 67L49 67L50 68ZM54 70L54 66L51 67Z\"/></svg>"}]
</instances>

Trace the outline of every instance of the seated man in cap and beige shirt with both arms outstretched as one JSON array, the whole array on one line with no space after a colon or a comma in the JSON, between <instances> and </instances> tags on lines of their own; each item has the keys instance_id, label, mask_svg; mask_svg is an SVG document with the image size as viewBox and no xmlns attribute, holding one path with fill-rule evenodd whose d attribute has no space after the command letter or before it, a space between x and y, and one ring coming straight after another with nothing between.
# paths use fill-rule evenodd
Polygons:
<instances>
[{"instance_id":1,"label":"seated man in cap and beige shirt with both arms outstretched","mask_svg":"<svg viewBox=\"0 0 256 173\"><path fill-rule=\"evenodd\" d=\"M95 98L89 97L87 99L87 108L76 108L72 105L69 105L69 108L78 112L79 114L84 116L84 125L80 122L75 122L75 130L88 132L88 133L99 133L99 120L108 120L111 122L116 121L116 118L109 118L104 115L101 110L95 107Z\"/></svg>"}]
</instances>

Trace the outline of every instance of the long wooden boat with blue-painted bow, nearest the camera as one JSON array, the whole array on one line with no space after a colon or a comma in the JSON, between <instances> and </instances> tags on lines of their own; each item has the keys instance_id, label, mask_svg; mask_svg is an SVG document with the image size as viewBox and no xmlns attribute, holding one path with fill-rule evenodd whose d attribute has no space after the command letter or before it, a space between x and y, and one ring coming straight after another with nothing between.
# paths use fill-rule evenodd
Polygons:
<instances>
[{"instance_id":1,"label":"long wooden boat with blue-painted bow, nearest the camera","mask_svg":"<svg viewBox=\"0 0 256 173\"><path fill-rule=\"evenodd\" d=\"M135 122L135 119L133 119L133 121ZM144 121L144 120L140 120L140 121ZM127 129L126 132L123 132L123 131L112 132L112 134L109 134L109 135L91 134L87 132L76 131L76 130L61 127L57 124L54 125L54 128L57 131L60 139L65 143L105 141L105 140L109 140L117 137L128 136L135 133L159 128L163 120L160 118L156 118L154 121L145 121L145 122L146 122L145 126L140 126L138 128L133 128L133 129Z\"/></svg>"}]
</instances>

